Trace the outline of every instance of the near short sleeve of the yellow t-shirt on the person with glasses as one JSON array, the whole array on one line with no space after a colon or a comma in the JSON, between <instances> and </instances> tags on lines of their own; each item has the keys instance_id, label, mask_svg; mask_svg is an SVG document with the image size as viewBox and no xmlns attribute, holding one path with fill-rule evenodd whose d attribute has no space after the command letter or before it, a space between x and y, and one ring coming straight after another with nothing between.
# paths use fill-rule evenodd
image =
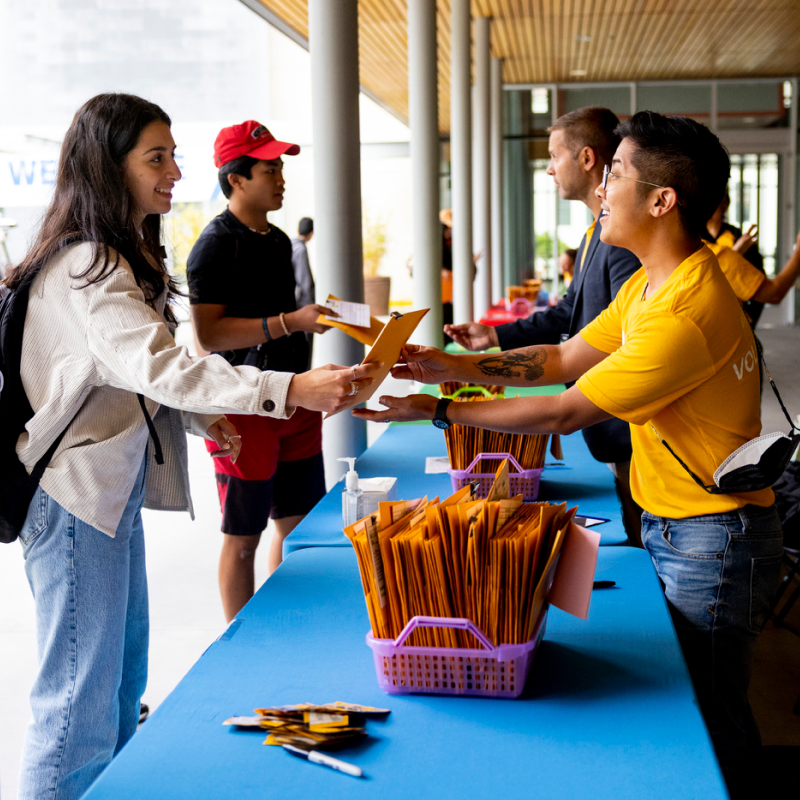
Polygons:
<instances>
[{"instance_id":1,"label":"near short sleeve of the yellow t-shirt on the person with glasses","mask_svg":"<svg viewBox=\"0 0 800 800\"><path fill-rule=\"evenodd\" d=\"M602 338L589 330L593 325L584 328L581 335L603 350ZM639 320L635 332L586 372L577 385L584 396L609 414L644 425L713 374L701 331L685 317L661 313Z\"/></svg>"}]
</instances>

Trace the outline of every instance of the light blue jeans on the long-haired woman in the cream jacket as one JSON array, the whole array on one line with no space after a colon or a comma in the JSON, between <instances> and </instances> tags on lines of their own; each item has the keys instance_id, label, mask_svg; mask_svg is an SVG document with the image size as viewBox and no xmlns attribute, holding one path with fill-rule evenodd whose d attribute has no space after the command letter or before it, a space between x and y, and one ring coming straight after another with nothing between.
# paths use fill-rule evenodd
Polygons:
<instances>
[{"instance_id":1,"label":"light blue jeans on the long-haired woman in the cream jacket","mask_svg":"<svg viewBox=\"0 0 800 800\"><path fill-rule=\"evenodd\" d=\"M80 797L136 732L147 682L148 603L142 460L114 538L41 487L20 535L36 604L20 800Z\"/></svg>"}]
</instances>

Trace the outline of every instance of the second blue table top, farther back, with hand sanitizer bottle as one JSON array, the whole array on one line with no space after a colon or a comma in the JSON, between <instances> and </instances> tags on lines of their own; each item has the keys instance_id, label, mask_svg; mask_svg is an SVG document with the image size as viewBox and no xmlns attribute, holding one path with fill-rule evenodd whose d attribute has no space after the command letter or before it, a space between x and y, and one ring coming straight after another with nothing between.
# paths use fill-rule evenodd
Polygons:
<instances>
[{"instance_id":1,"label":"second blue table top, farther back, with hand sanitizer bottle","mask_svg":"<svg viewBox=\"0 0 800 800\"><path fill-rule=\"evenodd\" d=\"M563 436L561 442L565 466L545 469L539 499L566 501L570 507L577 505L583 516L610 519L611 522L596 528L603 545L627 542L611 471L592 458L580 433ZM425 458L446 455L444 434L430 422L392 423L356 461L356 471L361 478L396 477L400 500L413 500L426 494L444 499L453 493L450 476L447 473L426 475ZM548 459L552 460L549 454ZM284 555L304 547L350 546L342 533L343 488L341 481L335 484L286 537Z\"/></svg>"}]
</instances>

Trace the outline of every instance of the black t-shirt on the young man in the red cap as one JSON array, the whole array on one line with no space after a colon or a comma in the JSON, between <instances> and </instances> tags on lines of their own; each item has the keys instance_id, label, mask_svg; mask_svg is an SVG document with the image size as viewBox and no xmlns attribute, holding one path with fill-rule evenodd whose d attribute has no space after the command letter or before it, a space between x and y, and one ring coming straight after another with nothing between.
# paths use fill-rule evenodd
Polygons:
<instances>
[{"instance_id":1,"label":"black t-shirt on the young man in the red cap","mask_svg":"<svg viewBox=\"0 0 800 800\"><path fill-rule=\"evenodd\" d=\"M261 319L297 310L292 244L280 228L251 231L225 209L208 223L186 264L189 302L227 306L228 317ZM220 355L231 364L277 372L304 372L308 342L303 333Z\"/></svg>"}]
</instances>

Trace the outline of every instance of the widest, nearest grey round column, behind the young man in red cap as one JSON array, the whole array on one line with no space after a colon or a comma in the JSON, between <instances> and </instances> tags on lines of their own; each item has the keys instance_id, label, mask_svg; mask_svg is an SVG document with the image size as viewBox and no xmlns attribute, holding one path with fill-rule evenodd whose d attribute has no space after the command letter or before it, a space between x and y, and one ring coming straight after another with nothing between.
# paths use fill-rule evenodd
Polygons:
<instances>
[{"instance_id":1,"label":"widest, nearest grey round column, behind the young man in red cap","mask_svg":"<svg viewBox=\"0 0 800 800\"><path fill-rule=\"evenodd\" d=\"M311 107L314 136L314 235L317 297L364 299L361 250L361 152L358 122L358 2L309 0ZM364 346L332 330L317 336L323 363L352 366ZM316 353L315 353L316 355ZM323 425L325 474L331 486L342 474L340 456L360 455L367 426L343 412Z\"/></svg>"}]
</instances>

